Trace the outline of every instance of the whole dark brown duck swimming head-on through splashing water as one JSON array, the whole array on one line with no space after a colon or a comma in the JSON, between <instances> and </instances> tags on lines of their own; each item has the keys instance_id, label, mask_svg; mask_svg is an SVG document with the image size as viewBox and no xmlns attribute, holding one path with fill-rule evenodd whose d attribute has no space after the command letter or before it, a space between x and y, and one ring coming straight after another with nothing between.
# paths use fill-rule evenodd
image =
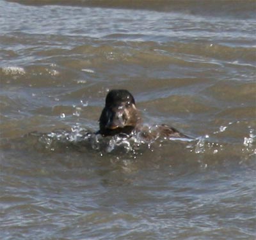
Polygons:
<instances>
[{"instance_id":1,"label":"whole dark brown duck swimming head-on through splashing water","mask_svg":"<svg viewBox=\"0 0 256 240\"><path fill-rule=\"evenodd\" d=\"M99 119L100 133L102 136L125 135L129 136L140 131L145 138L158 137L186 137L175 128L165 124L155 125L154 130L148 131L142 126L139 110L136 108L134 97L124 89L113 89L106 96L105 107Z\"/></svg>"}]
</instances>

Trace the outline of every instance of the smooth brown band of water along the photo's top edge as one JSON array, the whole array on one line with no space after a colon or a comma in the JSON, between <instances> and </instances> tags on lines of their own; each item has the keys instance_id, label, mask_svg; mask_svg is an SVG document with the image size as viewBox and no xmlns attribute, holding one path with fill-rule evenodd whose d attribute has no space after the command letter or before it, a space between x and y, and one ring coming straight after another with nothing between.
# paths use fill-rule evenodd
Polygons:
<instances>
[{"instance_id":1,"label":"smooth brown band of water along the photo's top edge","mask_svg":"<svg viewBox=\"0 0 256 240\"><path fill-rule=\"evenodd\" d=\"M66 6L84 6L97 8L128 8L134 10L154 10L173 12L177 11L184 14L220 16L246 19L254 19L255 1L177 1L177 0L153 0L153 1L130 1L130 0L8 0L10 2L29 4L29 5L66 5Z\"/></svg>"}]
</instances>

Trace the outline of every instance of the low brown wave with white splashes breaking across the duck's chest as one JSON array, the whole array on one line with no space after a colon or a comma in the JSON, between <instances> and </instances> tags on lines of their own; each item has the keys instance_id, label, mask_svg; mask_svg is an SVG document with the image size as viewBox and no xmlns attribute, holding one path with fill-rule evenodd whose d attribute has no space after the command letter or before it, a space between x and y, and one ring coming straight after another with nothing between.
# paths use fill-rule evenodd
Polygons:
<instances>
[{"instance_id":1,"label":"low brown wave with white splashes breaking across the duck's chest","mask_svg":"<svg viewBox=\"0 0 256 240\"><path fill-rule=\"evenodd\" d=\"M253 161L256 154L256 133L253 128L248 128L248 133L244 137L234 141L226 135L225 140L220 136L229 132L229 128L237 123L229 123L212 133L191 139L159 138L147 140L139 133L132 137L102 137L79 126L73 126L71 131L54 130L49 133L31 132L21 138L5 139L1 141L1 148L12 149L13 151L26 149L26 151L36 151L44 154L58 154L72 152L80 153L88 158L115 158L120 160L144 161L147 156L150 159L161 160L166 158L178 158L182 161L195 161L202 163L202 166L216 164L223 161ZM154 126L150 126L148 131L154 131ZM232 133L232 130L230 131ZM172 160L175 162L175 159Z\"/></svg>"}]
</instances>

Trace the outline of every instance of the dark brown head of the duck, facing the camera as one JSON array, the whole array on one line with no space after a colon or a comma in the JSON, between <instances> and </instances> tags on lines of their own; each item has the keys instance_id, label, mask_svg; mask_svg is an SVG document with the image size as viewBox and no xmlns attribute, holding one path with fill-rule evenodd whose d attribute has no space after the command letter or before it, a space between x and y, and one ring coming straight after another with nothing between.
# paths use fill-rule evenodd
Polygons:
<instances>
[{"instance_id":1,"label":"dark brown head of the duck, facing the camera","mask_svg":"<svg viewBox=\"0 0 256 240\"><path fill-rule=\"evenodd\" d=\"M104 136L129 135L141 121L132 94L122 89L109 91L99 121L99 133Z\"/></svg>"}]
</instances>

